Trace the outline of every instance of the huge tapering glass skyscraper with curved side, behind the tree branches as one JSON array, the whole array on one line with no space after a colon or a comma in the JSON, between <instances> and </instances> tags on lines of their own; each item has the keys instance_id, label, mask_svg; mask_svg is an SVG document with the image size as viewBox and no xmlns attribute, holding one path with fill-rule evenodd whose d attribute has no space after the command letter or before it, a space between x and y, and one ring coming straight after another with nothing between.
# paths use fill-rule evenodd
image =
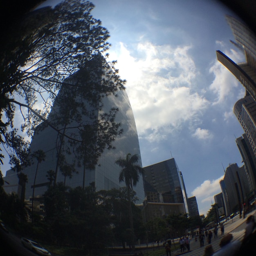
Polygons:
<instances>
[{"instance_id":1,"label":"huge tapering glass skyscraper with curved side, behind the tree branches","mask_svg":"<svg viewBox=\"0 0 256 256\"><path fill-rule=\"evenodd\" d=\"M96 64L95 64L96 63ZM95 67L95 65L97 67ZM74 166L77 173L72 173L72 177L68 178L64 177L60 170L58 170L56 181L57 182L64 182L67 186L72 188L77 186L83 186L83 178L85 186L89 186L92 182L95 184L95 189L99 190L110 190L112 188L119 188L121 186L125 186L125 183L119 183L119 173L121 171L120 166L115 164L115 161L119 158L125 158L128 153L131 155L137 154L139 156L139 164L141 164L141 157L140 157L140 149L139 149L139 140L137 135L137 129L135 125L135 119L132 113L132 108L130 106L130 101L128 99L128 95L125 90L118 90L116 95L108 95L107 97L103 97L101 103L97 103L98 105L92 106L92 103L84 102L83 95L79 92L79 86L88 86L87 85L87 76L88 72L94 72L97 75L94 75L95 81L93 81L95 86L103 87L103 79L106 79L106 73L111 72L110 67L107 65L106 61L103 57L95 58L94 60L88 62L87 70L81 71L76 73L74 76L70 76L65 83L72 84L72 90L75 90L77 93L76 99L81 100L81 103L87 104L88 113L83 115L84 109L80 109L81 120L80 123L86 124L92 121L101 121L102 115L106 112L108 113L112 108L118 108L118 112L115 118L116 123L121 124L121 129L123 129L122 134L115 138L113 141L112 146L113 149L105 149L97 164L90 166L90 168L84 168L83 162L81 161L80 165L77 164L77 151L81 150L81 148L77 148L76 145L72 148L66 148L63 150L63 154L65 154L65 162L68 164L74 163L76 160L76 165ZM79 76L79 83L76 87L76 78ZM91 81L90 81L91 82ZM115 81L112 81L115 83ZM89 82L88 82L89 83ZM102 88L102 92L104 88ZM65 92L64 88L61 88L58 96L56 97L54 107L52 108L48 121L54 121L56 117L58 117L59 113L63 110L61 106L63 106L63 99L67 100L67 97L62 97L64 94L71 93L70 91ZM89 91L88 93L92 94L92 97L98 97L98 95L93 95L93 91ZM59 104L61 102L61 104ZM80 102L80 101L78 101ZM68 102L65 102L68 104ZM68 105L67 105L68 109ZM79 109L79 108L78 108ZM89 117L89 115L91 115ZM65 125L60 124L58 126L59 130L65 130L67 135L79 135L81 132L81 128L76 128L78 125L77 120L73 120L72 113L67 114L66 118L68 121ZM95 120L94 120L95 119ZM57 153L59 150L59 145L61 144L61 136L58 135L56 130L52 129L50 126L45 128L41 128L44 124L40 124L38 127L38 132L36 132L33 136L31 141L30 150L31 152L35 152L36 150L43 150L45 152L45 161L40 162L38 165L38 172L36 175L36 182L35 182L35 191L34 191L34 198L40 198L41 195L47 190L47 186L49 184L49 180L47 180L47 171L49 170L56 170L57 166ZM68 127L73 127L72 129L68 130ZM91 133L90 133L91 132ZM101 141L97 141L94 137L91 137L92 134L96 132L95 130L90 130L85 132L85 136L88 136L88 144L97 145ZM94 138L94 139L93 139ZM65 138L68 140L67 138ZM66 141L67 142L67 141ZM66 143L68 145L68 143ZM90 160L90 159L89 159ZM26 185L25 191L25 199L29 200L32 196L33 190L33 183L35 179L35 172L36 172L36 164L32 164L31 166L25 168L22 172L27 175L28 182ZM13 181L16 179L16 174L13 174L13 171L9 170L7 172L6 177L4 180L9 182L8 187L5 186L6 191L8 192L8 188L13 188L15 183L18 185L17 181ZM139 182L137 186L134 188L135 192L137 193L137 197L139 198L139 204L142 204L145 194L144 194L144 186L143 186L143 178L142 176L139 178ZM17 188L18 191L18 188Z\"/></svg>"}]
</instances>

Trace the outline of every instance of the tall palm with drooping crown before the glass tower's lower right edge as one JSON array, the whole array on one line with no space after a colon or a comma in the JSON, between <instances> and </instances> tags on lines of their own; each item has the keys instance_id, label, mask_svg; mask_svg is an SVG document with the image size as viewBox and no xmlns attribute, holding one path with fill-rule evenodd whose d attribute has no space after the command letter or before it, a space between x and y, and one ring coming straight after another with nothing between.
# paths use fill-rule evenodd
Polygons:
<instances>
[{"instance_id":1,"label":"tall palm with drooping crown before the glass tower's lower right edge","mask_svg":"<svg viewBox=\"0 0 256 256\"><path fill-rule=\"evenodd\" d=\"M132 220L132 205L131 205L131 191L133 191L133 187L135 187L139 181L140 175L144 174L143 168L137 165L136 163L139 161L139 157L137 154L131 155L128 153L126 158L117 159L115 164L118 164L122 170L119 174L119 182L125 182L128 192L128 211L129 211L129 221L130 221L130 229L132 235L132 250L135 249L134 243L134 228L133 228L133 220Z\"/></svg>"}]
</instances>

